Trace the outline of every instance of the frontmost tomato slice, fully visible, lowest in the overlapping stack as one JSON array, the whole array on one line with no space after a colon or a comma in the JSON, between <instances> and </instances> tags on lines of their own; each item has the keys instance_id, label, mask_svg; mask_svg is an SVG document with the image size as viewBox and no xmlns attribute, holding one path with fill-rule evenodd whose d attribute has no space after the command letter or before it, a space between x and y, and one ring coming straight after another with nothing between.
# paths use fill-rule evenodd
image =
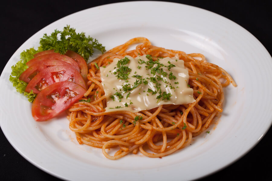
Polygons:
<instances>
[{"instance_id":1,"label":"frontmost tomato slice, fully visible, lowest in the overlapping stack","mask_svg":"<svg viewBox=\"0 0 272 181\"><path fill-rule=\"evenodd\" d=\"M86 90L69 81L56 82L40 91L32 104L35 121L47 121L62 113L83 97Z\"/></svg>"}]
</instances>

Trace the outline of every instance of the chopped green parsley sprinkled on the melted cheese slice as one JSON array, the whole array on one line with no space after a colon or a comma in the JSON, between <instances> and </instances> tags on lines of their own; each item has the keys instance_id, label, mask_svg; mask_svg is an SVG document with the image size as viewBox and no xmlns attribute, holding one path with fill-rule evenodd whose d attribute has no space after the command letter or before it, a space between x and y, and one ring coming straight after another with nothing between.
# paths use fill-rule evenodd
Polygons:
<instances>
[{"instance_id":1,"label":"chopped green parsley sprinkled on the melted cheese slice","mask_svg":"<svg viewBox=\"0 0 272 181\"><path fill-rule=\"evenodd\" d=\"M172 64L170 61L168 61L165 65L161 63L156 57L152 57L151 55L146 55L146 58L148 59L147 61L144 61L142 59L138 59L138 63L140 65L144 65L144 67L150 72L147 73L146 75L137 75L137 71L132 73L132 69L128 66L130 59L128 57L125 57L123 59L120 59L116 63L115 71L113 74L117 77L117 79L124 80L122 83L122 87L118 88L120 91L116 92L115 94L111 95L110 98L115 100L115 97L121 102L121 99L123 97L126 97L128 99L129 95L131 94L131 91L139 87L141 84L147 85L149 82L154 84L154 88L148 88L147 90L143 90L143 92L151 93L152 95L156 95L157 101L160 100L170 100L172 94L167 93L166 91L163 91L161 89L162 83L164 83L164 87L170 87L170 89L175 89L178 88L178 86L172 86L169 80L176 80L177 77L173 74L171 71L172 67L176 67L176 65ZM163 57L161 57L163 58ZM177 61L177 60L176 60ZM138 69L142 68L142 66L136 65ZM165 69L167 68L168 71ZM130 75L133 74L133 75ZM131 79L131 78L136 78ZM130 80L130 81L129 81ZM134 82L131 80L135 80ZM165 85L166 84L166 85ZM173 83L172 83L173 84ZM174 84L179 84L178 81L174 82ZM188 87L190 87L189 84L187 84ZM163 88L164 88L163 87ZM139 88L139 91L141 88ZM138 94L141 94L141 92L138 91ZM125 96L125 93L126 94ZM149 94L146 94L147 96ZM130 104L132 104L130 102ZM125 107L128 107L128 103L125 103Z\"/></svg>"}]
</instances>

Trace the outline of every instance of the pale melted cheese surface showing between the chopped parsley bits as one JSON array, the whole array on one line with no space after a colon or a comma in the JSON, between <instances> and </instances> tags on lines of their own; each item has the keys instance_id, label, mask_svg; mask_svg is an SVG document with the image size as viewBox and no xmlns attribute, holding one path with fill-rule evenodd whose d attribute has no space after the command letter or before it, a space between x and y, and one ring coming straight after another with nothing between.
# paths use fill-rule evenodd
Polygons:
<instances>
[{"instance_id":1,"label":"pale melted cheese surface showing between the chopped parsley bits","mask_svg":"<svg viewBox=\"0 0 272 181\"><path fill-rule=\"evenodd\" d=\"M193 98L193 89L188 87L189 73L184 68L184 61L176 59L177 57L173 57L172 59L169 57L160 59L159 62L163 65L175 65L171 67L170 70L167 67L162 67L164 72L167 72L167 76L163 77L161 74L157 74L158 76L163 78L163 81L157 81L160 84L161 92L166 92L167 94L171 94L170 100L162 98L157 99L158 89L156 88L156 83L151 82L150 77L155 77L151 74L151 69L145 67L147 64L140 64L141 60L148 62L149 59L146 58L146 55L138 56L135 59L131 56L126 56L129 59L128 66L131 68L131 71L128 75L128 79L125 80L117 79L114 72L118 69L117 63L120 59L115 58L111 64L107 67L100 67L101 71L101 80L103 89L105 91L107 107L105 108L105 112L113 112L113 111L131 111L131 112L139 112L142 110L150 110L152 108L158 107L164 104L188 104L193 103L195 99ZM170 64L169 64L170 62ZM157 66L155 64L153 67ZM170 79L169 74L173 73L176 77ZM125 84L130 84L131 87L134 86L134 82L139 80L139 78L132 77L133 75L140 75L142 79L147 80L148 84L140 84L135 89L125 92L122 87ZM170 74L171 75L171 74ZM167 84L166 84L167 83ZM158 86L157 86L158 87ZM156 94L152 95L152 91L157 91ZM123 98L116 96L116 92L121 94ZM128 95L129 94L129 95Z\"/></svg>"}]
</instances>

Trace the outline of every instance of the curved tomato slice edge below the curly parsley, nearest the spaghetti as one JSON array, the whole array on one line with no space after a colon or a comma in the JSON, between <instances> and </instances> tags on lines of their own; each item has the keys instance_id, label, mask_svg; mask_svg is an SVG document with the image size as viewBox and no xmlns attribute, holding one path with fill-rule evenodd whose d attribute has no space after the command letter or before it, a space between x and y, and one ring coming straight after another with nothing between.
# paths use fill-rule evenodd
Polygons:
<instances>
[{"instance_id":1,"label":"curved tomato slice edge below the curly parsley, nearest the spaghetti","mask_svg":"<svg viewBox=\"0 0 272 181\"><path fill-rule=\"evenodd\" d=\"M72 59L76 61L80 69L80 74L83 77L83 79L86 81L87 74L88 74L88 67L83 57L81 57L78 53L73 52L72 50L68 50L65 55L71 57Z\"/></svg>"}]
</instances>

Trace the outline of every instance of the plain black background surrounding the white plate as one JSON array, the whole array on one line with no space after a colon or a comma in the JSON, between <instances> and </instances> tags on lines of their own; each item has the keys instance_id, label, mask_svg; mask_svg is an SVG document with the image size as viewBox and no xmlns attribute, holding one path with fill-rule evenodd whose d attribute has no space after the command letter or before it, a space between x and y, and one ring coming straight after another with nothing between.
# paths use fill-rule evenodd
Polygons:
<instances>
[{"instance_id":1,"label":"plain black background surrounding the white plate","mask_svg":"<svg viewBox=\"0 0 272 181\"><path fill-rule=\"evenodd\" d=\"M1 72L13 53L38 30L77 11L122 1L5 1L1 2ZM272 52L272 13L269 1L171 1L220 14L252 33ZM144 12L143 12L144 13ZM257 63L257 61L256 61ZM270 80L268 80L270 81ZM1 86L1 85L0 85ZM272 90L267 90L272 91ZM5 95L1 95L5 96ZM269 98L268 98L269 101ZM255 113L262 114L262 113ZM0 118L1 119L1 118ZM261 124L262 120L256 120ZM254 126L254 125L252 125ZM200 180L272 180L272 129L244 157ZM59 180L33 166L9 144L0 130L1 180ZM224 155L222 155L223 157ZM206 165L209 167L209 163ZM192 168L193 169L193 168ZM196 170L197 172L197 170ZM182 176L181 176L182 177ZM91 174L90 174L90 180Z\"/></svg>"}]
</instances>

